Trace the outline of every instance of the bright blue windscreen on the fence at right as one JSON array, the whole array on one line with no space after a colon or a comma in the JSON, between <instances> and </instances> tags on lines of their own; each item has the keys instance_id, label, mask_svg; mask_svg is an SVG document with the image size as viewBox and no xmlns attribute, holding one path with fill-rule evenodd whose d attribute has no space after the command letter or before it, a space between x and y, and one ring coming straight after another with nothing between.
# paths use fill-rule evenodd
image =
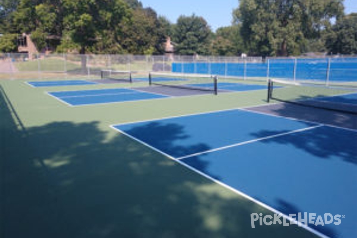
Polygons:
<instances>
[{"instance_id":1,"label":"bright blue windscreen on the fence at right","mask_svg":"<svg viewBox=\"0 0 357 238\"><path fill-rule=\"evenodd\" d=\"M268 63L269 62L269 63ZM172 72L285 80L357 81L357 58L269 59L266 62L174 62Z\"/></svg>"}]
</instances>

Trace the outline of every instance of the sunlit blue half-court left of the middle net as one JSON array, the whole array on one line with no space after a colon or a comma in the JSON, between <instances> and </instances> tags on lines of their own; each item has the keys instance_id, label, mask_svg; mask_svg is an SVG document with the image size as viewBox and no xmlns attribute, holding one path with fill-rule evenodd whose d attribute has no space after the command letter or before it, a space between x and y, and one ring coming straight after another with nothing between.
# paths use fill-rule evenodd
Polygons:
<instances>
[{"instance_id":1,"label":"sunlit blue half-court left of the middle net","mask_svg":"<svg viewBox=\"0 0 357 238\"><path fill-rule=\"evenodd\" d=\"M141 92L128 88L109 88L98 90L49 92L49 95L70 106L92 105L99 103L126 102L165 98L168 96Z\"/></svg>"}]
</instances>

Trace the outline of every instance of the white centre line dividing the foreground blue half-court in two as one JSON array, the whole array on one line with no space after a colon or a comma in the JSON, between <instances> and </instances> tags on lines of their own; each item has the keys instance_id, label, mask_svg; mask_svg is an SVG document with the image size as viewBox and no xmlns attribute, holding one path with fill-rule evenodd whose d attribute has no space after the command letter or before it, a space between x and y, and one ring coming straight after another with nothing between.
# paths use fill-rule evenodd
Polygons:
<instances>
[{"instance_id":1,"label":"white centre line dividing the foreground blue half-court in two","mask_svg":"<svg viewBox=\"0 0 357 238\"><path fill-rule=\"evenodd\" d=\"M312 129L315 129L315 128L318 128L318 127L322 127L322 126L323 125L311 126L311 127L306 127L306 128L294 130L294 131L279 133L279 134L272 135L272 136L261 137L261 138L254 139L254 140L244 141L244 142L232 144L232 145L229 145L229 146L223 146L223 147L215 148L215 149L212 149L212 150L207 150L207 151L194 153L194 154L191 154L191 155L182 156L182 157L179 157L179 158L176 158L176 159L180 160L180 159L186 159L186 158L190 158L190 157L194 157L194 156L198 156L198 155L204 155L204 154L207 154L207 153L220 151L220 150L225 150L225 149L228 149L228 148L237 147L237 146L241 146L241 145L246 145L246 144L250 144L250 143L254 143L254 142L258 142L258 141L268 140L268 139L275 138L275 137L290 135L290 134L294 134L294 133L298 133L298 132L302 132L302 131L308 131L308 130L312 130Z\"/></svg>"}]
</instances>

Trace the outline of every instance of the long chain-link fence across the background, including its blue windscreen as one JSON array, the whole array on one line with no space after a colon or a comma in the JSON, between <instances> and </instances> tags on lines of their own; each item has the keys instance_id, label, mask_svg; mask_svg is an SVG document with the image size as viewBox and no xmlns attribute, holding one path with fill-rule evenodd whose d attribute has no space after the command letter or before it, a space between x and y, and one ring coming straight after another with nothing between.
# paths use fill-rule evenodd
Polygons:
<instances>
[{"instance_id":1,"label":"long chain-link fence across the background, including its blue windscreen","mask_svg":"<svg viewBox=\"0 0 357 238\"><path fill-rule=\"evenodd\" d=\"M211 74L324 84L357 82L357 57L282 58L179 55L0 54L0 79L99 79L103 69Z\"/></svg>"}]
</instances>

